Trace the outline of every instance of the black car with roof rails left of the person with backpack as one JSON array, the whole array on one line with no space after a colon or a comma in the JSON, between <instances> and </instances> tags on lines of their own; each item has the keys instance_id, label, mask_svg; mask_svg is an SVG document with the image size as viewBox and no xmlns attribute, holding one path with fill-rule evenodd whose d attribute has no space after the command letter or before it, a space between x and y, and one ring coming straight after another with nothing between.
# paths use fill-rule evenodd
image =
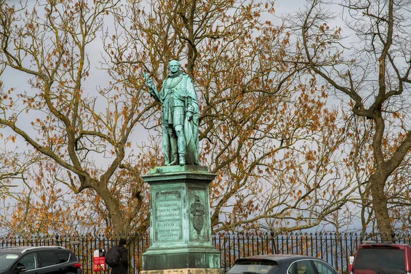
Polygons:
<instances>
[{"instance_id":1,"label":"black car with roof rails left of the person with backpack","mask_svg":"<svg viewBox=\"0 0 411 274\"><path fill-rule=\"evenodd\" d=\"M0 274L81 274L82 264L63 247L0 247Z\"/></svg>"}]
</instances>

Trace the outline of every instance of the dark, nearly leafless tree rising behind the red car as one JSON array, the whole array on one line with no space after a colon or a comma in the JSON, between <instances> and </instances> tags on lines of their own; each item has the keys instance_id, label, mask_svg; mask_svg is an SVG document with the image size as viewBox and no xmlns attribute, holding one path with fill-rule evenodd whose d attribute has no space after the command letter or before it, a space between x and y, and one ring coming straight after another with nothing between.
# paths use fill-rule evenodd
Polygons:
<instances>
[{"instance_id":1,"label":"dark, nearly leafless tree rising behind the red car","mask_svg":"<svg viewBox=\"0 0 411 274\"><path fill-rule=\"evenodd\" d=\"M312 72L349 98L353 114L373 123L369 188L377 228L389 238L388 182L411 148L409 4L344 1L343 19L353 34L349 49L343 29L330 27L335 21L322 1L310 1L294 25L301 26L297 37Z\"/></svg>"}]
</instances>

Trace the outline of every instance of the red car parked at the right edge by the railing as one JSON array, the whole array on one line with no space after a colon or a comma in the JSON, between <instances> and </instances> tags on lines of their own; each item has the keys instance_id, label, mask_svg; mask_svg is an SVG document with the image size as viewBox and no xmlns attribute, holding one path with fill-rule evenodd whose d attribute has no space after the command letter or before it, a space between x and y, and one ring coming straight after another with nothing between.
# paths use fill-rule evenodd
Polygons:
<instances>
[{"instance_id":1,"label":"red car parked at the right edge by the railing","mask_svg":"<svg viewBox=\"0 0 411 274\"><path fill-rule=\"evenodd\" d=\"M411 245L362 244L354 256L351 274L411 274Z\"/></svg>"}]
</instances>

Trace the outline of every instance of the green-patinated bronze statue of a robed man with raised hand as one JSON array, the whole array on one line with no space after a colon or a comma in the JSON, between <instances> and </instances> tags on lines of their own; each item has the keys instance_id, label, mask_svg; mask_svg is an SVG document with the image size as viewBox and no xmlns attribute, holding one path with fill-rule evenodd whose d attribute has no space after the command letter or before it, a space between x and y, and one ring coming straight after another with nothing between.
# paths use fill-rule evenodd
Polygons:
<instances>
[{"instance_id":1,"label":"green-patinated bronze statue of a robed man with raised hand","mask_svg":"<svg viewBox=\"0 0 411 274\"><path fill-rule=\"evenodd\" d=\"M199 164L199 103L190 75L180 64L169 62L170 74L157 91L145 74L149 92L162 103L163 150L165 164Z\"/></svg>"}]
</instances>

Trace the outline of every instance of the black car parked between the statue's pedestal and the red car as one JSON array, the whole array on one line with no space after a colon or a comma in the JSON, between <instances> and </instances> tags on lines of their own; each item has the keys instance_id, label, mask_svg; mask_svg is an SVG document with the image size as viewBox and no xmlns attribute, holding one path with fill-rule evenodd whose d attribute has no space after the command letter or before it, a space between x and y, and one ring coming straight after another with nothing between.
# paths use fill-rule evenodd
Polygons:
<instances>
[{"instance_id":1,"label":"black car parked between the statue's pedestal and the red car","mask_svg":"<svg viewBox=\"0 0 411 274\"><path fill-rule=\"evenodd\" d=\"M227 274L338 274L338 272L319 258L277 254L240 258Z\"/></svg>"}]
</instances>

